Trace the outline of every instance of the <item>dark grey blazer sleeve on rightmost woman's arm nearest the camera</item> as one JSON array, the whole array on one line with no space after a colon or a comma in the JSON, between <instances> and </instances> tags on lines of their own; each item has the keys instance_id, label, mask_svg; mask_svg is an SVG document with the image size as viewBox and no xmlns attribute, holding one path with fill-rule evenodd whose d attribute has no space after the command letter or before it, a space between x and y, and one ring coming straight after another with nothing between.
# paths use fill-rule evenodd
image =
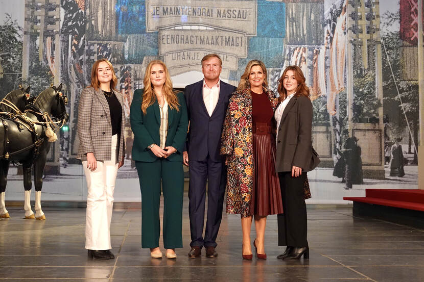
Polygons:
<instances>
[{"instance_id":1,"label":"dark grey blazer sleeve on rightmost woman's arm nearest the camera","mask_svg":"<svg viewBox=\"0 0 424 282\"><path fill-rule=\"evenodd\" d=\"M297 145L293 158L293 166L308 168L312 158L312 102L307 97L299 97L298 108L299 130Z\"/></svg>"}]
</instances>

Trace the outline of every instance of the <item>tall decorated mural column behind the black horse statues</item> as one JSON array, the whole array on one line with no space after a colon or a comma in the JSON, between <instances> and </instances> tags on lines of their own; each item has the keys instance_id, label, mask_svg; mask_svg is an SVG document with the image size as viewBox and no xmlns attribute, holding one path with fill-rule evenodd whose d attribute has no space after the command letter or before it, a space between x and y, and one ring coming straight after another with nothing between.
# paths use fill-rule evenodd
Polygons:
<instances>
[{"instance_id":1,"label":"tall decorated mural column behind the black horse statues","mask_svg":"<svg viewBox=\"0 0 424 282\"><path fill-rule=\"evenodd\" d=\"M60 75L60 0L26 0L25 23L23 28L22 80L31 79L29 73L31 56L38 46L38 61L48 65L54 76L54 81L46 81L45 88L54 83L61 83ZM39 94L39 93L34 93ZM55 142L47 156L45 174L60 172L60 144Z\"/></svg>"}]
</instances>

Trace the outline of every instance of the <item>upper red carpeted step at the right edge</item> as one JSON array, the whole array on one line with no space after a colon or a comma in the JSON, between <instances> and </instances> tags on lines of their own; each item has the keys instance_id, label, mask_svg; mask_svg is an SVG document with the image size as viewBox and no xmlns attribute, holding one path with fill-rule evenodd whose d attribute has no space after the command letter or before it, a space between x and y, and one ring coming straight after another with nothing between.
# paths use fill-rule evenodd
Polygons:
<instances>
[{"instance_id":1,"label":"upper red carpeted step at the right edge","mask_svg":"<svg viewBox=\"0 0 424 282\"><path fill-rule=\"evenodd\" d=\"M424 190L420 189L366 189L365 196L424 204Z\"/></svg>"}]
</instances>

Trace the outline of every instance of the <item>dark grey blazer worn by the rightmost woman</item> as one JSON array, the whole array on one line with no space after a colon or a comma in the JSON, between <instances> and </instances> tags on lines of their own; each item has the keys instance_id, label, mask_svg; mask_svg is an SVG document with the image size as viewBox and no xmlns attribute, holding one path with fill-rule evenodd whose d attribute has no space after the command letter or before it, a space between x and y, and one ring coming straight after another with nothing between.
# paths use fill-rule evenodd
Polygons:
<instances>
[{"instance_id":1,"label":"dark grey blazer worn by the rightmost woman","mask_svg":"<svg viewBox=\"0 0 424 282\"><path fill-rule=\"evenodd\" d=\"M312 102L293 96L281 116L277 136L276 171L292 171L292 166L310 171L312 160Z\"/></svg>"}]
</instances>

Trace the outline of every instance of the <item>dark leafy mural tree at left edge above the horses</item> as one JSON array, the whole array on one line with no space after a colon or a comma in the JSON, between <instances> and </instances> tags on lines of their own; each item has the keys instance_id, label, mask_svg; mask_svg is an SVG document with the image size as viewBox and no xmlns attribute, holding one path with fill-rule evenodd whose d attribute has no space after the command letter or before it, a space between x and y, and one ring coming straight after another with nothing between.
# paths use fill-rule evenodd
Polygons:
<instances>
[{"instance_id":1,"label":"dark leafy mural tree at left edge above the horses","mask_svg":"<svg viewBox=\"0 0 424 282\"><path fill-rule=\"evenodd\" d=\"M12 20L11 16L6 14L6 20L0 25L0 97L4 97L20 84L22 41L19 38L21 33L22 28L16 20Z\"/></svg>"}]
</instances>

